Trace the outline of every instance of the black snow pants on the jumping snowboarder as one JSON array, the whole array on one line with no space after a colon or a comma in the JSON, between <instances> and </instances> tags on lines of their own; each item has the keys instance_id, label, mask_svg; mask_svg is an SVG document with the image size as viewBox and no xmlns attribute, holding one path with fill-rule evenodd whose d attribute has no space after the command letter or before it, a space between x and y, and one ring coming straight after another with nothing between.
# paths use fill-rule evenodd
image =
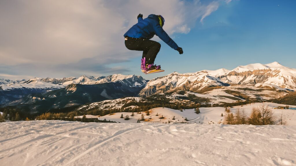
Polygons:
<instances>
[{"instance_id":1,"label":"black snow pants on the jumping snowboarder","mask_svg":"<svg viewBox=\"0 0 296 166\"><path fill-rule=\"evenodd\" d=\"M143 51L142 58L146 57L145 64L153 64L160 50L160 43L149 39L126 37L124 43L129 50Z\"/></svg>"}]
</instances>

